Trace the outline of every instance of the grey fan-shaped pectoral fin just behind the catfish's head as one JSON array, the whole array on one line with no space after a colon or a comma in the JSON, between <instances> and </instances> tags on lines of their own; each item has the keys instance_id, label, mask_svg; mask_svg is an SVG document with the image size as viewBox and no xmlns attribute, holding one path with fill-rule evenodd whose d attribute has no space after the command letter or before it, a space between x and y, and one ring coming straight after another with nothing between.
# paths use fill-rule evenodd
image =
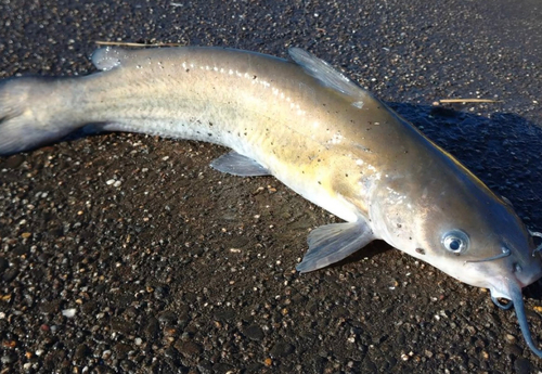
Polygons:
<instances>
[{"instance_id":1,"label":"grey fan-shaped pectoral fin just behind the catfish's head","mask_svg":"<svg viewBox=\"0 0 542 374\"><path fill-rule=\"evenodd\" d=\"M374 238L365 221L322 225L309 234L309 250L296 269L306 273L338 262Z\"/></svg>"}]
</instances>

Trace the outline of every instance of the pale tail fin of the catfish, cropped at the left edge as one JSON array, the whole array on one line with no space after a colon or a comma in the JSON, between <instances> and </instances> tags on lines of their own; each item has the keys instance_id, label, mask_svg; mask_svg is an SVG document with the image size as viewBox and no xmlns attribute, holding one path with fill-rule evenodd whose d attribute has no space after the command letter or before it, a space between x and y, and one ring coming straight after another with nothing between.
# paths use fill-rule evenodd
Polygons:
<instances>
[{"instance_id":1,"label":"pale tail fin of the catfish, cropped at the left edge","mask_svg":"<svg viewBox=\"0 0 542 374\"><path fill-rule=\"evenodd\" d=\"M73 100L65 88L62 79L0 82L0 156L50 143L78 127L67 115Z\"/></svg>"}]
</instances>

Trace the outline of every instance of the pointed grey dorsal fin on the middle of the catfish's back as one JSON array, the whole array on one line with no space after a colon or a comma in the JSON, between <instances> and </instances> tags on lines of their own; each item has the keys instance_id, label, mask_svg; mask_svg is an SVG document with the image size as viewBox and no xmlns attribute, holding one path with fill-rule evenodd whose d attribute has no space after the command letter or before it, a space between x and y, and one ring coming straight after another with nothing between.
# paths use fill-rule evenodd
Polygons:
<instances>
[{"instance_id":1,"label":"pointed grey dorsal fin on the middle of the catfish's back","mask_svg":"<svg viewBox=\"0 0 542 374\"><path fill-rule=\"evenodd\" d=\"M364 99L372 98L369 92L348 79L343 73L312 53L293 47L288 49L288 54L307 74L317 78L323 86L349 95L356 101L363 102Z\"/></svg>"}]
</instances>

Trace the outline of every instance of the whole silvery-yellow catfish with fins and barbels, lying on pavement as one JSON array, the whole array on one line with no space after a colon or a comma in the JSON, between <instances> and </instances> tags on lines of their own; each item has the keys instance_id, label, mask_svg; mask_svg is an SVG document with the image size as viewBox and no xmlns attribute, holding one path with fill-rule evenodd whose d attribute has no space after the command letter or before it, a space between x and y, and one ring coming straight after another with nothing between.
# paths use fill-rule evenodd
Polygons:
<instances>
[{"instance_id":1,"label":"whole silvery-yellow catfish with fins and barbels, lying on pavement","mask_svg":"<svg viewBox=\"0 0 542 374\"><path fill-rule=\"evenodd\" d=\"M220 48L98 50L102 72L0 85L0 154L83 126L221 144L211 166L272 175L344 219L314 229L301 272L384 240L492 297L542 275L512 206L386 104L300 49L291 60ZM498 304L500 305L500 304ZM502 306L502 305L500 305Z\"/></svg>"}]
</instances>

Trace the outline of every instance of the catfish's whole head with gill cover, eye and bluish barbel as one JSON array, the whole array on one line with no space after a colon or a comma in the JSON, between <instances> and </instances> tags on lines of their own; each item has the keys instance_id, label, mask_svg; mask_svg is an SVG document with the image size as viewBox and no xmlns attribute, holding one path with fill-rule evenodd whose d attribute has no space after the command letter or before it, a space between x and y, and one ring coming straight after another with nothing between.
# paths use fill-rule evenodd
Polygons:
<instances>
[{"instance_id":1,"label":"catfish's whole head with gill cover, eye and bluish barbel","mask_svg":"<svg viewBox=\"0 0 542 374\"><path fill-rule=\"evenodd\" d=\"M426 172L396 176L380 184L379 198L374 199L378 203L370 210L375 232L462 282L489 288L498 307L514 306L527 345L542 358L521 296L522 287L542 276L533 234L506 199L461 164L446 160Z\"/></svg>"}]
</instances>

